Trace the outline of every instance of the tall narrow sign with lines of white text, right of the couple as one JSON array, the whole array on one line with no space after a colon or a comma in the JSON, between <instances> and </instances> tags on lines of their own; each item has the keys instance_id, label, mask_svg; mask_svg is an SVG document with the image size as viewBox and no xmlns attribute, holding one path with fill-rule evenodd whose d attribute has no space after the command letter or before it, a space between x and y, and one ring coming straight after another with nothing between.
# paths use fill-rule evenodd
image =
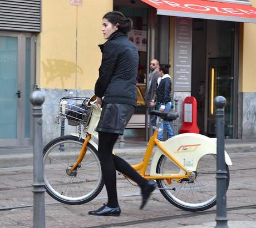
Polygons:
<instances>
[{"instance_id":1,"label":"tall narrow sign with lines of white text, right of the couple","mask_svg":"<svg viewBox=\"0 0 256 228\"><path fill-rule=\"evenodd\" d=\"M175 18L174 91L191 91L192 19Z\"/></svg>"}]
</instances>

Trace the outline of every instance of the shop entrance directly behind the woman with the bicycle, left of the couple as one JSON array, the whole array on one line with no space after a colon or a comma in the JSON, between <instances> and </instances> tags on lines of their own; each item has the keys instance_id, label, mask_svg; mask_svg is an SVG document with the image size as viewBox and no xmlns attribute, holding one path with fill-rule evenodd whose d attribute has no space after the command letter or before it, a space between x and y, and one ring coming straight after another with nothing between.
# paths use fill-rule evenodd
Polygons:
<instances>
[{"instance_id":1,"label":"shop entrance directly behind the woman with the bicycle, left of the couple","mask_svg":"<svg viewBox=\"0 0 256 228\"><path fill-rule=\"evenodd\" d=\"M126 126L125 138L147 140L145 93L149 62L156 58L160 63L169 63L169 17L157 16L155 8L142 1L114 0L114 10L132 19L134 28L128 33L128 38L139 51L137 108Z\"/></svg>"}]
</instances>

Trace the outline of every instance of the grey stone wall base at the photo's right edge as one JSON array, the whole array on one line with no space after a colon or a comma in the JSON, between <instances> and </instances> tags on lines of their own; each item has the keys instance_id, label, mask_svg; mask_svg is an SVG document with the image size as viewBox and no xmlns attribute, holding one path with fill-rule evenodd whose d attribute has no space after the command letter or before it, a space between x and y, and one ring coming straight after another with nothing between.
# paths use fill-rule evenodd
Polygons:
<instances>
[{"instance_id":1,"label":"grey stone wall base at the photo's right edge","mask_svg":"<svg viewBox=\"0 0 256 228\"><path fill-rule=\"evenodd\" d=\"M243 93L242 139L256 139L256 93Z\"/></svg>"}]
</instances>

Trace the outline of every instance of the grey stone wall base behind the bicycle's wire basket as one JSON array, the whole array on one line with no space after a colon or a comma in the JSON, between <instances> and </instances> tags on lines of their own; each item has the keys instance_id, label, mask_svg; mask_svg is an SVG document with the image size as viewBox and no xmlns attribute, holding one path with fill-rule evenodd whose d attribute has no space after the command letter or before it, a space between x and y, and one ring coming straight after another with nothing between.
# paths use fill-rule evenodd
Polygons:
<instances>
[{"instance_id":1,"label":"grey stone wall base behind the bicycle's wire basket","mask_svg":"<svg viewBox=\"0 0 256 228\"><path fill-rule=\"evenodd\" d=\"M41 89L45 95L43 103L43 145L61 135L61 124L57 124L58 105L62 97L91 97L93 90ZM77 132L77 126L70 126L65 120L65 135Z\"/></svg>"}]
</instances>

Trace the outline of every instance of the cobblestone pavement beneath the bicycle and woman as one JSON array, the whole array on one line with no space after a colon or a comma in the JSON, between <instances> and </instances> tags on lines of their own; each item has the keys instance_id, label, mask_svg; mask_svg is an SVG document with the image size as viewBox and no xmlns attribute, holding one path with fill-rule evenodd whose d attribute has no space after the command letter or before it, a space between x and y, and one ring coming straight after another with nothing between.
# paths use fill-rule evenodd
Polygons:
<instances>
[{"instance_id":1,"label":"cobblestone pavement beneath the bicycle and woman","mask_svg":"<svg viewBox=\"0 0 256 228\"><path fill-rule=\"evenodd\" d=\"M138 155L127 160L137 163ZM230 166L230 185L227 192L228 219L232 221L256 221L256 152L229 153L233 161ZM23 166L0 169L0 227L32 227L33 223L33 168ZM46 227L180 227L215 221L215 207L205 212L183 211L171 205L156 190L144 210L139 210L141 196L139 188L118 176L117 188L122 210L120 217L95 217L87 214L106 202L105 189L94 200L83 205L65 205L45 194ZM133 196L132 196L133 195ZM250 208L236 208L239 206ZM11 207L15 209L9 210ZM124 223L126 222L126 223ZM130 222L130 223L129 223ZM132 224L133 222L133 224ZM107 225L108 224L108 225ZM114 225L115 224L115 225ZM241 227L246 223L241 223ZM104 226L105 225L105 226Z\"/></svg>"}]
</instances>

